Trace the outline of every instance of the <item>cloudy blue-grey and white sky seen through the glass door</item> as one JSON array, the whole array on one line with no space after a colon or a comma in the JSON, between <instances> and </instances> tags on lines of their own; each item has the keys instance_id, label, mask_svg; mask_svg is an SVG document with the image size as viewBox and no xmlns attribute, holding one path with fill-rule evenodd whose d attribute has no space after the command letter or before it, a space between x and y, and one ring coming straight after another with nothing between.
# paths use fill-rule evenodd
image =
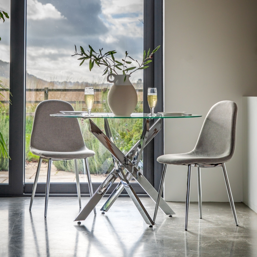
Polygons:
<instances>
[{"instance_id":1,"label":"cloudy blue-grey and white sky seen through the glass door","mask_svg":"<svg viewBox=\"0 0 257 257\"><path fill-rule=\"evenodd\" d=\"M10 0L0 0L10 13ZM5 9L4 9L5 8ZM143 0L27 0L27 72L44 80L97 82L103 68L89 71L88 61L79 67L71 57L76 44L96 51L117 50L123 58L127 50L142 61ZM0 24L0 59L9 61L10 22ZM143 78L133 73L132 80Z\"/></svg>"}]
</instances>

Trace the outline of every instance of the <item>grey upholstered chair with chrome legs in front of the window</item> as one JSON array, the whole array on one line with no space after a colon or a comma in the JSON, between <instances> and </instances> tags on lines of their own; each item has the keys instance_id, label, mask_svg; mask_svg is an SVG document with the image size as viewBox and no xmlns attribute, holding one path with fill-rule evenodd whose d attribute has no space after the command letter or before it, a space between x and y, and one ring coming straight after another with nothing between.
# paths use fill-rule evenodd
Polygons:
<instances>
[{"instance_id":1,"label":"grey upholstered chair with chrome legs in front of the window","mask_svg":"<svg viewBox=\"0 0 257 257\"><path fill-rule=\"evenodd\" d=\"M90 195L92 196L93 194L87 158L94 156L95 152L86 148L77 118L50 116L50 114L59 113L60 111L74 111L74 109L71 104L61 100L45 100L41 102L35 110L30 139L30 151L39 156L38 168L36 170L31 195L30 210L35 196L42 158L48 159L47 183L45 188L45 217L47 216L50 174L53 160L74 159L77 193L79 207L81 208L77 159L84 159L84 169L87 171ZM96 214L95 210L94 212Z\"/></svg>"}]
</instances>

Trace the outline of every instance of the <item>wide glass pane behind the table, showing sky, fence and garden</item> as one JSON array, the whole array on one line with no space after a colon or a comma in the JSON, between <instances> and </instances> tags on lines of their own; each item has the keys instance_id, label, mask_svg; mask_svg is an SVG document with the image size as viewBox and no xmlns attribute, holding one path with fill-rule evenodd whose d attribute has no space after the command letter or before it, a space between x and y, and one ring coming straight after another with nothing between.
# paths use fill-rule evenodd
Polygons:
<instances>
[{"instance_id":1,"label":"wide glass pane behind the table, showing sky, fence and garden","mask_svg":"<svg viewBox=\"0 0 257 257\"><path fill-rule=\"evenodd\" d=\"M39 157L30 152L30 136L35 108L45 99L60 99L72 104L76 111L87 111L85 87L94 87L92 112L111 112L107 95L111 83L102 76L105 67L89 70L89 61L81 66L74 54L80 45L104 52L116 50L122 60L125 51L133 59L143 58L143 0L27 0L26 49L26 145L25 182L33 182ZM99 50L98 50L99 51ZM122 73L121 73L122 74ZM138 103L135 112L143 112L143 70L131 75ZM65 90L63 90L65 89ZM103 119L93 121L104 130ZM87 148L95 151L88 158L92 182L102 182L113 169L111 155L88 131L88 121L79 118ZM126 153L139 140L142 119L109 119L115 143ZM140 163L142 168L142 162ZM81 182L84 182L82 160L78 162ZM47 162L43 161L39 182L46 181ZM116 180L117 181L117 180ZM54 161L51 182L75 182L74 161ZM118 182L118 181L117 181Z\"/></svg>"}]
</instances>

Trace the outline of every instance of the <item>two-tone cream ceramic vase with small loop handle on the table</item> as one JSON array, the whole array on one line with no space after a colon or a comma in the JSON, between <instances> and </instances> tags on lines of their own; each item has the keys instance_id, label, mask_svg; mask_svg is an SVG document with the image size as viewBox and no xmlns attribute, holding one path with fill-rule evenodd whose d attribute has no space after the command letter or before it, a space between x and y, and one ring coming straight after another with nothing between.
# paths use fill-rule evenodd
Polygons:
<instances>
[{"instance_id":1,"label":"two-tone cream ceramic vase with small loop handle on the table","mask_svg":"<svg viewBox=\"0 0 257 257\"><path fill-rule=\"evenodd\" d=\"M110 80L112 76L113 80ZM107 101L111 111L118 116L130 115L133 113L137 104L137 93L131 84L130 75L109 74L107 81L113 83L109 90Z\"/></svg>"}]
</instances>

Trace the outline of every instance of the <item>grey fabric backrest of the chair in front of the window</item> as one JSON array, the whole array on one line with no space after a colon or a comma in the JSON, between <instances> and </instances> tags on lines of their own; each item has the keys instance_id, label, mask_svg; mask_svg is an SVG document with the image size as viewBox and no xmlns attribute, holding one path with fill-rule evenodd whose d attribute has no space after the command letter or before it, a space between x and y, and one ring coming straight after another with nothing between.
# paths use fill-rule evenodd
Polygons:
<instances>
[{"instance_id":1,"label":"grey fabric backrest of the chair in front of the window","mask_svg":"<svg viewBox=\"0 0 257 257\"><path fill-rule=\"evenodd\" d=\"M42 151L73 152L85 147L77 118L51 117L60 111L74 111L61 100L45 100L34 115L30 146Z\"/></svg>"}]
</instances>

